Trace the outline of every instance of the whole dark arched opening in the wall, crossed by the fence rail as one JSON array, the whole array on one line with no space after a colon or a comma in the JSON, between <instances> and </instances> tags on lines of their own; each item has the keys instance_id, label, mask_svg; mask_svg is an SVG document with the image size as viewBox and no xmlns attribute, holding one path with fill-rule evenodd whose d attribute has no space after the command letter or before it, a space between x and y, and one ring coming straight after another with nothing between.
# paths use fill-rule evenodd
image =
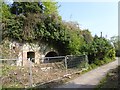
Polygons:
<instances>
[{"instance_id":1,"label":"whole dark arched opening in the wall, crossed by the fence rail","mask_svg":"<svg viewBox=\"0 0 120 90\"><path fill-rule=\"evenodd\" d=\"M56 53L56 52L54 52L54 51L48 52L48 53L45 55L44 62L45 62L45 63L58 62L57 56L58 56L58 53Z\"/></svg>"}]
</instances>

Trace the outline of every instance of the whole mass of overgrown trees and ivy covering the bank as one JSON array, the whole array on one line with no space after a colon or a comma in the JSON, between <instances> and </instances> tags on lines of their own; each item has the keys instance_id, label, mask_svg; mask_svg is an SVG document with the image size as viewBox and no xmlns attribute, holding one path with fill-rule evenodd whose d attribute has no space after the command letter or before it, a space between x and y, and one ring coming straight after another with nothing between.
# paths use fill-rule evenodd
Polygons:
<instances>
[{"instance_id":1,"label":"whole mass of overgrown trees and ivy covering the bank","mask_svg":"<svg viewBox=\"0 0 120 90\"><path fill-rule=\"evenodd\" d=\"M108 40L92 37L89 30L81 30L78 23L63 21L56 2L2 3L3 40L19 42L44 41L61 54L87 54L90 63L114 58L114 49Z\"/></svg>"}]
</instances>

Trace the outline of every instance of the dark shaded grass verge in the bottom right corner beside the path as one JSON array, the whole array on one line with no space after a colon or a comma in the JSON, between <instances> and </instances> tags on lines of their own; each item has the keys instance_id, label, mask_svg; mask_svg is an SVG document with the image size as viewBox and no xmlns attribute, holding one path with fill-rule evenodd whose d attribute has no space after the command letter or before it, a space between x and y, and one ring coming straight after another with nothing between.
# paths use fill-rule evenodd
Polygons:
<instances>
[{"instance_id":1,"label":"dark shaded grass verge in the bottom right corner beside the path","mask_svg":"<svg viewBox=\"0 0 120 90\"><path fill-rule=\"evenodd\" d=\"M120 75L118 70L120 70L120 66L118 66L116 69L110 70L107 75L100 81L95 90L101 90L104 88L111 88L112 90L116 90L118 87L120 87L118 84L118 76Z\"/></svg>"}]
</instances>

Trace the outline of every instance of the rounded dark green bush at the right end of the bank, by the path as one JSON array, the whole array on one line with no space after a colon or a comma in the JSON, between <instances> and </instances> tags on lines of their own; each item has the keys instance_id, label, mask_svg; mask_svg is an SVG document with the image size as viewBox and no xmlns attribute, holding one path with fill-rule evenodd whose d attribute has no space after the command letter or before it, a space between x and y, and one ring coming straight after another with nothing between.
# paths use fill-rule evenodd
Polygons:
<instances>
[{"instance_id":1,"label":"rounded dark green bush at the right end of the bank, by the path","mask_svg":"<svg viewBox=\"0 0 120 90\"><path fill-rule=\"evenodd\" d=\"M103 60L105 57L115 58L115 50L110 42L97 36L94 37L92 43L84 45L81 50L88 55L89 63L93 63L95 60Z\"/></svg>"}]
</instances>

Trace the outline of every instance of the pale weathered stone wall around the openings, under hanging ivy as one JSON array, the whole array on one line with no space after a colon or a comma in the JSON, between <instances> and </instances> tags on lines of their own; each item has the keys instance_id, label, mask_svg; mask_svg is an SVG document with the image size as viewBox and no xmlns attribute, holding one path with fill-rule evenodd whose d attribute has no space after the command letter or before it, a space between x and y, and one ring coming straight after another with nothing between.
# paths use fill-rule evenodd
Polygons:
<instances>
[{"instance_id":1,"label":"pale weathered stone wall around the openings, under hanging ivy","mask_svg":"<svg viewBox=\"0 0 120 90\"><path fill-rule=\"evenodd\" d=\"M40 64L44 62L43 58L45 55L50 52L54 51L57 52L55 48L52 46L48 45L47 43L44 42L36 42L36 43L19 43L16 41L11 42L10 47L19 47L19 54L18 54L18 61L17 65L19 66L25 66L28 65L28 60L27 60L27 53L28 52L34 52L35 53L35 60L34 63ZM58 52L57 52L58 53Z\"/></svg>"}]
</instances>

